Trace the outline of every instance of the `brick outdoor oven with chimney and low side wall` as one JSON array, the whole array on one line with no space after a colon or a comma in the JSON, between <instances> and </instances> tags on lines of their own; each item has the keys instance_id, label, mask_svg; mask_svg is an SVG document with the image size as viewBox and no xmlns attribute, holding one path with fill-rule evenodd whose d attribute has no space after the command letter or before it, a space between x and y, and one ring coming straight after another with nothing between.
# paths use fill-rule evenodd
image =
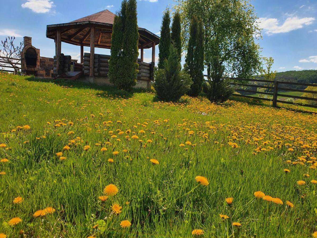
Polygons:
<instances>
[{"instance_id":1,"label":"brick outdoor oven with chimney and low side wall","mask_svg":"<svg viewBox=\"0 0 317 238\"><path fill-rule=\"evenodd\" d=\"M24 48L21 51L21 71L37 77L52 77L54 59L40 56L40 49L32 46L32 37L23 37Z\"/></svg>"}]
</instances>

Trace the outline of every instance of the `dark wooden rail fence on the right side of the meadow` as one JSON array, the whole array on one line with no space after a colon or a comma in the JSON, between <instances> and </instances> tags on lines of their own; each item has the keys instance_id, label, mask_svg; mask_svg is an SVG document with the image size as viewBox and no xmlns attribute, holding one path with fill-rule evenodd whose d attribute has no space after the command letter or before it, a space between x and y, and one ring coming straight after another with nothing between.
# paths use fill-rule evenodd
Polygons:
<instances>
[{"instance_id":1,"label":"dark wooden rail fence on the right side of the meadow","mask_svg":"<svg viewBox=\"0 0 317 238\"><path fill-rule=\"evenodd\" d=\"M207 76L207 75L205 75ZM317 84L314 83L295 83L295 82L283 82L283 81L269 81L269 80L262 80L262 79L246 79L246 78L230 78L232 82L230 83L231 85L234 86L242 86L242 87L250 87L250 88L256 88L255 90L249 90L249 89L236 89L236 92L247 92L247 93L252 93L252 94L260 94L260 95L269 95L272 96L271 98L268 97L257 97L257 96L250 96L250 95L243 95L243 94L237 94L234 93L233 96L237 97L245 97L245 98L253 98L253 99L258 99L258 100L265 100L265 101L271 101L273 107L277 107L277 103L285 103L285 104L292 104L292 105L298 105L298 106L304 106L304 107L311 107L311 108L317 108L317 105L312 105L312 104L307 104L307 103L296 103L296 102L288 102L288 101L283 101L279 100L280 97L287 97L287 98L295 98L295 99L303 99L307 101L314 101L317 102L317 90L316 91L311 91L311 90L304 90L304 89L290 89L287 88L287 85L300 85L300 86L313 86L316 87L317 89ZM272 85L272 86L266 86L266 85L256 85L256 84L249 84L248 82L257 82L257 83L265 83L267 85ZM286 86L283 86L286 85ZM281 87L282 85L282 87ZM262 89L270 89L266 90L268 92L261 92L258 91L258 88ZM295 96L295 95L288 95L288 94L281 94L279 91L284 91L284 92L303 92L303 93L311 93L311 94L316 94L316 97L303 97L303 96Z\"/></svg>"}]
</instances>

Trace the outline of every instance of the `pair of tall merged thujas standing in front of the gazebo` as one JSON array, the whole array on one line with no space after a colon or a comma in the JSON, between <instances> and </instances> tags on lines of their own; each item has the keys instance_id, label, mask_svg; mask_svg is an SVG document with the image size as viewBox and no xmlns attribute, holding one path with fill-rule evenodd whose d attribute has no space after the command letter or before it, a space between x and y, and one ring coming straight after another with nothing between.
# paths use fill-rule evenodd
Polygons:
<instances>
[{"instance_id":1,"label":"pair of tall merged thujas standing in front of the gazebo","mask_svg":"<svg viewBox=\"0 0 317 238\"><path fill-rule=\"evenodd\" d=\"M136 85L139 64L139 31L136 0L124 0L115 17L111 39L109 79L119 89L131 90Z\"/></svg>"}]
</instances>

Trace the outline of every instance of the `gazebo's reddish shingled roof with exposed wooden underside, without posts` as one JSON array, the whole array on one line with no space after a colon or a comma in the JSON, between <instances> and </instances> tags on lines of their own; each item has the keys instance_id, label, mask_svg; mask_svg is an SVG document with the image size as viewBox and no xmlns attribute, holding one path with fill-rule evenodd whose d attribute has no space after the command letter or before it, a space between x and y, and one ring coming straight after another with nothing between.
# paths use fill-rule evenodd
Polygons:
<instances>
[{"instance_id":1,"label":"gazebo's reddish shingled roof with exposed wooden underside, without posts","mask_svg":"<svg viewBox=\"0 0 317 238\"><path fill-rule=\"evenodd\" d=\"M46 37L55 39L56 31L60 29L62 42L90 46L90 29L94 26L95 47L110 49L114 17L115 14L106 9L69 23L48 25ZM139 35L139 48L151 48L153 42L159 44L159 36L144 28L139 27Z\"/></svg>"}]
</instances>

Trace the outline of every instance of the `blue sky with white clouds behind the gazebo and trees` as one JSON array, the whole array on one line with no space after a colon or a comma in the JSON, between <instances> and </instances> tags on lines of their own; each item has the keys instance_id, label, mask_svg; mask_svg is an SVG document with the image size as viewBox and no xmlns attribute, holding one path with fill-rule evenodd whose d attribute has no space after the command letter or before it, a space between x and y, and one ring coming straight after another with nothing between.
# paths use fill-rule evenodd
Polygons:
<instances>
[{"instance_id":1,"label":"blue sky with white clouds behind the gazebo and trees","mask_svg":"<svg viewBox=\"0 0 317 238\"><path fill-rule=\"evenodd\" d=\"M54 40L46 38L46 25L67 23L98 11L116 12L120 0L0 0L2 24L0 40L7 35L31 36L32 44L41 56L55 55ZM90 2L87 4L87 2ZM260 45L262 55L272 56L273 69L281 71L317 69L317 1L316 0L253 0L263 28ZM162 12L175 4L173 0L138 0L138 23L158 33ZM11 18L12 17L12 18ZM89 48L85 47L85 51ZM80 47L62 43L62 52L79 58ZM108 54L108 50L96 49ZM156 50L158 55L158 49ZM145 50L145 61L151 61L151 50Z\"/></svg>"}]
</instances>

